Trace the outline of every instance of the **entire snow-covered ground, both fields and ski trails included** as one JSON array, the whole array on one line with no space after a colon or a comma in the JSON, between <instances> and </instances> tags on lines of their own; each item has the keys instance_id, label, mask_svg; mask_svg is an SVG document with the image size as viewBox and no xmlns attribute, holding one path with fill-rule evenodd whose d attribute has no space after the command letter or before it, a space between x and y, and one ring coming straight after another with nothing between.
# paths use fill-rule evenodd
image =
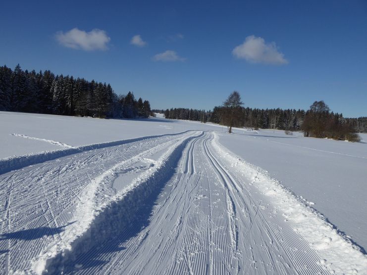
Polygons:
<instances>
[{"instance_id":1,"label":"entire snow-covered ground, both fields and ski trails included","mask_svg":"<svg viewBox=\"0 0 367 275\"><path fill-rule=\"evenodd\" d=\"M367 274L366 142L10 112L0 142L0 274Z\"/></svg>"}]
</instances>

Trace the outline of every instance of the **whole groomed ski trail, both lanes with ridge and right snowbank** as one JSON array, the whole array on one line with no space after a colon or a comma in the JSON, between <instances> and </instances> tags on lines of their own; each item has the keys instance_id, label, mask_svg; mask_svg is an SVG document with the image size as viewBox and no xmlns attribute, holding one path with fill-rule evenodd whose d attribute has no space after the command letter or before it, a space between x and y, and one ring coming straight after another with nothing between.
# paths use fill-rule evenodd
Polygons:
<instances>
[{"instance_id":1,"label":"whole groomed ski trail, both lanes with ridge and right snowbank","mask_svg":"<svg viewBox=\"0 0 367 275\"><path fill-rule=\"evenodd\" d=\"M0 274L367 274L364 251L217 137L21 158L0 175Z\"/></svg>"}]
</instances>

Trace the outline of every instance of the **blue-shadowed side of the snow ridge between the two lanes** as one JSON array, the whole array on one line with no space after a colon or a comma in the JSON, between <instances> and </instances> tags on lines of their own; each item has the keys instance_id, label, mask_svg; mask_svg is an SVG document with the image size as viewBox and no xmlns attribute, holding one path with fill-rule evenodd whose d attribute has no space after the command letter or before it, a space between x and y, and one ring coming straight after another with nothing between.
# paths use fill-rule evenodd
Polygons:
<instances>
[{"instance_id":1,"label":"blue-shadowed side of the snow ridge between the two lanes","mask_svg":"<svg viewBox=\"0 0 367 275\"><path fill-rule=\"evenodd\" d=\"M139 217L149 214L145 213L147 211L145 204L149 205L150 203L154 203L157 195L160 193L160 188L164 187L165 183L171 178L171 175L174 174L173 171L176 169L176 166L172 167L172 164L179 161L181 156L180 152L182 152L182 149L193 138L195 137L187 137L185 140L179 141L179 144L176 145L176 148L169 157L169 161L166 161L166 164L158 170L157 175L147 182L139 184L121 200L112 202L104 212L100 213L91 225L91 228L72 245L73 249L71 252L65 252L64 255L59 254L55 258L50 259L48 262L49 272L62 272L63 274L76 272L78 274L94 274L99 272L99 266L94 267L92 265L88 267L90 262L109 261L109 254L115 252L115 250L109 251L111 246L115 246L113 243L125 238L131 238L137 234L135 231L139 230L139 228L129 226L131 220L134 221L134 218L130 216ZM110 227L106 228L106 224L110 225ZM142 226L145 227L144 224ZM101 231L103 230L106 231L105 237L107 239L100 239ZM142 241L144 237L139 239ZM119 247L115 247L114 249L118 251ZM88 253L85 253L87 251ZM99 255L102 255L102 257L99 257ZM98 258L98 260L95 258ZM78 266L79 263L83 263L86 268L79 271L74 270L75 266Z\"/></svg>"}]
</instances>

